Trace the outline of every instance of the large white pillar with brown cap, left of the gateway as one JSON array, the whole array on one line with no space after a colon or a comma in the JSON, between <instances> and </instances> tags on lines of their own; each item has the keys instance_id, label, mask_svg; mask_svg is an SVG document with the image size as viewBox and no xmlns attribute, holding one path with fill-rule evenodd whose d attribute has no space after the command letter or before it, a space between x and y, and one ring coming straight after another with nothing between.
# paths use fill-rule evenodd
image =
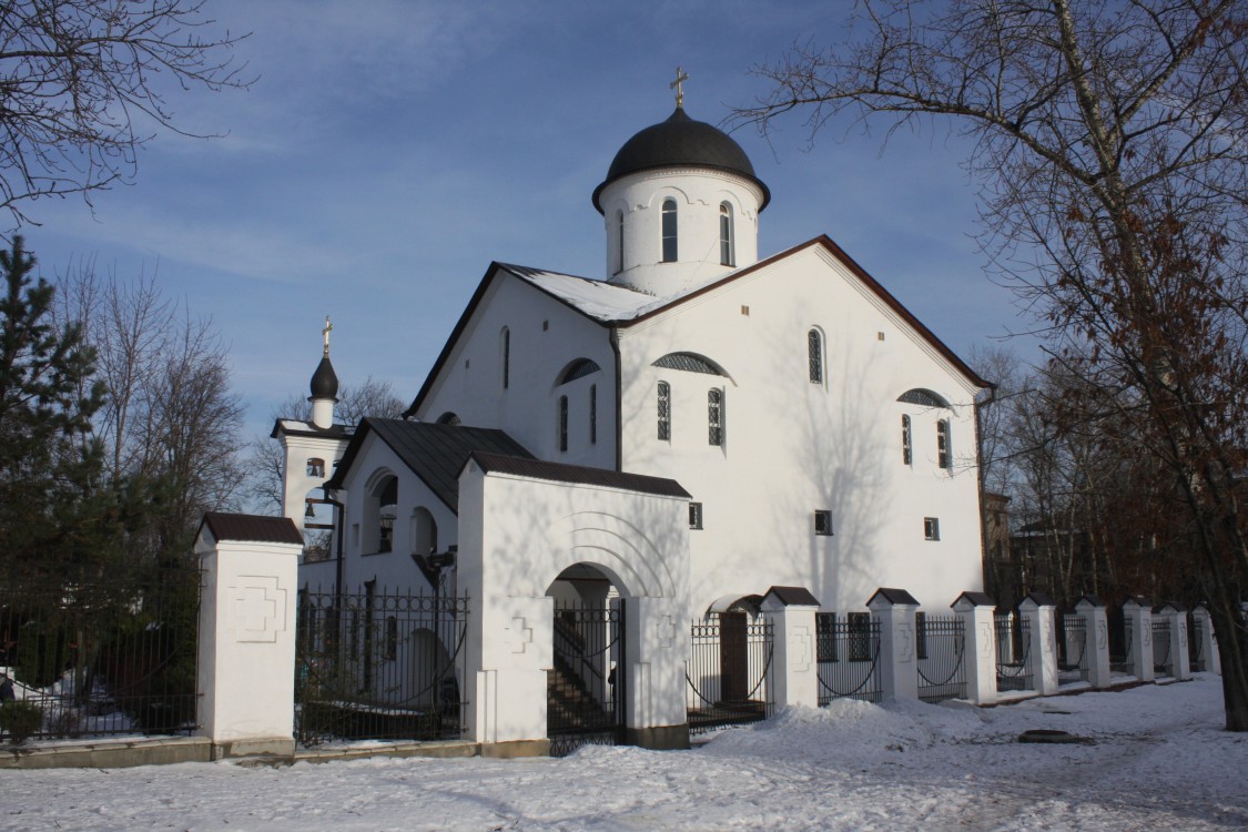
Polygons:
<instances>
[{"instance_id":1,"label":"large white pillar with brown cap, left of the gateway","mask_svg":"<svg viewBox=\"0 0 1248 832\"><path fill-rule=\"evenodd\" d=\"M288 518L210 513L200 524L200 735L215 757L295 751L301 551Z\"/></svg>"}]
</instances>

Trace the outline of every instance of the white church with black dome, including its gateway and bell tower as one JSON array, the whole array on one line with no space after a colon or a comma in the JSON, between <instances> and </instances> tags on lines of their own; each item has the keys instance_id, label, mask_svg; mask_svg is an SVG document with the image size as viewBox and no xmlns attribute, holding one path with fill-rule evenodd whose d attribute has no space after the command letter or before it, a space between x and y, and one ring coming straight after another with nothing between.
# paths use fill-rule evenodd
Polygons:
<instances>
[{"instance_id":1,"label":"white church with black dome, including its gateway and bell tower","mask_svg":"<svg viewBox=\"0 0 1248 832\"><path fill-rule=\"evenodd\" d=\"M275 427L286 515L337 529L301 583L470 599L478 742L545 736L555 600L623 599L630 737L663 747L690 620L982 588L987 383L830 238L760 258L770 198L678 97L593 191L605 278L492 263L403 418L354 430L327 332L312 419Z\"/></svg>"}]
</instances>

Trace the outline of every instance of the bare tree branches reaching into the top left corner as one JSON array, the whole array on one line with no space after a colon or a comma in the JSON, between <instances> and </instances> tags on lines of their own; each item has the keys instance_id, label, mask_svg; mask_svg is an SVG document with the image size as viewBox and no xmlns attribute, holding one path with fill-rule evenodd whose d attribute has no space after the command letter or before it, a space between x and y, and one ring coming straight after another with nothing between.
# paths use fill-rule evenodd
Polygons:
<instances>
[{"instance_id":1,"label":"bare tree branches reaching into the top left corner","mask_svg":"<svg viewBox=\"0 0 1248 832\"><path fill-rule=\"evenodd\" d=\"M155 130L185 133L166 90L245 89L205 0L0 1L0 207L12 227L26 203L134 176Z\"/></svg>"}]
</instances>

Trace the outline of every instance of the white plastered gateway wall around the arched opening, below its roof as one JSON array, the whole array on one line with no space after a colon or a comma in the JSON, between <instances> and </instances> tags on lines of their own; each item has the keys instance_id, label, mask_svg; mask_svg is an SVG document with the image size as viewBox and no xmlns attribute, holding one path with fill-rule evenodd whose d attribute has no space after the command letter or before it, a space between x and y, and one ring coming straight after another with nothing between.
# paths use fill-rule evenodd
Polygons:
<instances>
[{"instance_id":1,"label":"white plastered gateway wall around the arched opening, below its roof","mask_svg":"<svg viewBox=\"0 0 1248 832\"><path fill-rule=\"evenodd\" d=\"M469 733L547 736L550 584L573 564L608 575L625 602L629 727L685 723L689 554L685 501L590 485L461 475L459 583L470 597Z\"/></svg>"}]
</instances>

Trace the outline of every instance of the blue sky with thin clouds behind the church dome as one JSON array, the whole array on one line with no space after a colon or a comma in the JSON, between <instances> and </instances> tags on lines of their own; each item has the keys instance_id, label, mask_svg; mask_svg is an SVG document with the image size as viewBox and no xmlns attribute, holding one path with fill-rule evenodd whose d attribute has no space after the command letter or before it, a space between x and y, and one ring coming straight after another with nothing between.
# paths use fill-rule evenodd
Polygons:
<instances>
[{"instance_id":1,"label":"blue sky with thin clouds behind the church dome","mask_svg":"<svg viewBox=\"0 0 1248 832\"><path fill-rule=\"evenodd\" d=\"M208 0L258 80L173 95L180 123L134 185L29 206L45 276L94 258L156 272L211 316L248 404L247 435L307 393L326 314L343 383L419 388L490 261L602 277L590 193L615 151L674 107L719 123L766 90L750 67L844 37L851 2ZM837 241L961 354L1026 328L971 238L962 140L845 126L810 147L800 117L770 145L734 133L771 188L760 254Z\"/></svg>"}]
</instances>

